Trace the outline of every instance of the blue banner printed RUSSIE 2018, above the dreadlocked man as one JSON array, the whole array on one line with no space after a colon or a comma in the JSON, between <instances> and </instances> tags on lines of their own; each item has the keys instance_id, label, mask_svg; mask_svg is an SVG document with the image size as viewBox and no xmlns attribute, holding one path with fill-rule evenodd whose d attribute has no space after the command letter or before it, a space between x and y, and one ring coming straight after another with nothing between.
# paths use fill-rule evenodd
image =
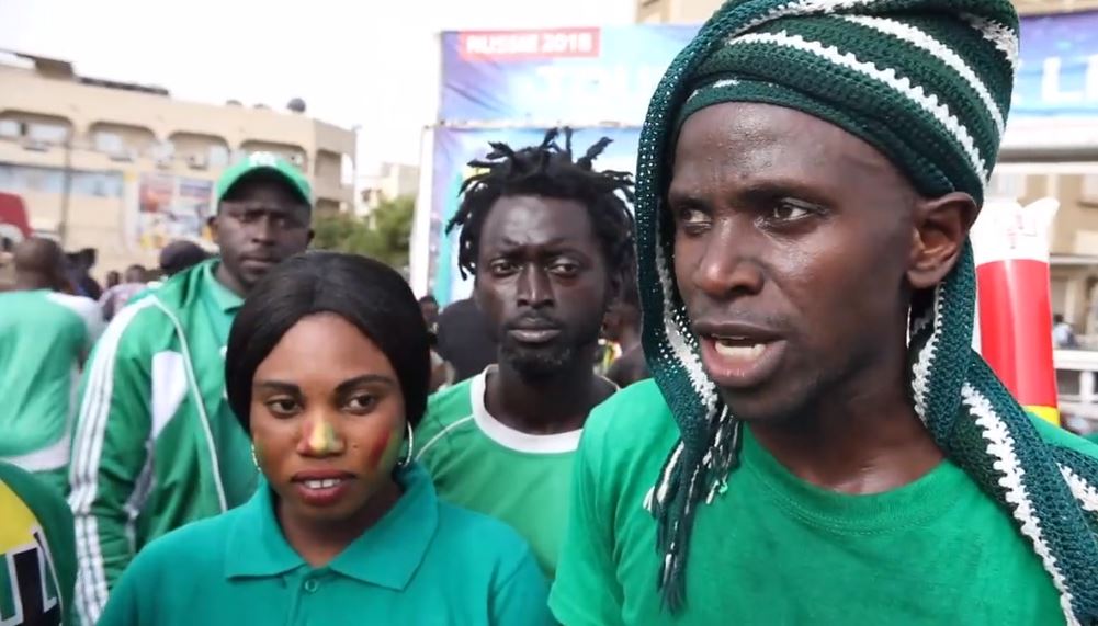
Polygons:
<instances>
[{"instance_id":1,"label":"blue banner printed RUSSIE 2018, above the dreadlocked man","mask_svg":"<svg viewBox=\"0 0 1098 626\"><path fill-rule=\"evenodd\" d=\"M442 33L446 123L637 125L693 25Z\"/></svg>"}]
</instances>

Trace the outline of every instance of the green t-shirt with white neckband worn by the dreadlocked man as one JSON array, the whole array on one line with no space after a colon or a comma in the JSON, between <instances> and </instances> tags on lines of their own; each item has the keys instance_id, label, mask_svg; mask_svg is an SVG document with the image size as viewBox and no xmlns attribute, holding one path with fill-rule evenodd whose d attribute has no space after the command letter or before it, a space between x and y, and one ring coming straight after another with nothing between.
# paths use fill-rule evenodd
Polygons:
<instances>
[{"instance_id":1,"label":"green t-shirt with white neckband worn by the dreadlocked man","mask_svg":"<svg viewBox=\"0 0 1098 626\"><path fill-rule=\"evenodd\" d=\"M442 500L509 524L551 578L582 431L529 435L502 424L484 407L492 372L494 366L430 398L415 433L416 458Z\"/></svg>"}]
</instances>

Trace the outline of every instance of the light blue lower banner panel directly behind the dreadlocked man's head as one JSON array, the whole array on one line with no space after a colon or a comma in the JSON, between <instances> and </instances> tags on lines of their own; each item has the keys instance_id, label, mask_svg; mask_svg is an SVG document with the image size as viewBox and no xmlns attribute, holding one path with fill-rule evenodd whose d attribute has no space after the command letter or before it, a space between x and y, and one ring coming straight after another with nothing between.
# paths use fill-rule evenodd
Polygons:
<instances>
[{"instance_id":1,"label":"light blue lower banner panel directly behind the dreadlocked man's head","mask_svg":"<svg viewBox=\"0 0 1098 626\"><path fill-rule=\"evenodd\" d=\"M462 279L458 271L457 233L445 234L446 224L460 204L461 183L475 174L468 163L483 158L491 150L489 142L503 142L518 149L540 144L545 133L545 128L435 130L428 276L440 304L466 298L472 289L472 280ZM639 128L579 128L572 137L572 149L582 155L601 137L609 137L613 143L595 160L595 169L634 171L639 133Z\"/></svg>"}]
</instances>

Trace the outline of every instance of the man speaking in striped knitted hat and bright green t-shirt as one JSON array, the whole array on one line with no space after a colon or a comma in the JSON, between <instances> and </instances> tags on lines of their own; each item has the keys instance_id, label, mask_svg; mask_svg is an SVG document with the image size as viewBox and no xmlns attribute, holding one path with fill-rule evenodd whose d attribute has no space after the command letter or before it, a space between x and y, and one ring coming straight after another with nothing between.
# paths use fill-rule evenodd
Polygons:
<instances>
[{"instance_id":1,"label":"man speaking in striped knitted hat and bright green t-shirt","mask_svg":"<svg viewBox=\"0 0 1098 626\"><path fill-rule=\"evenodd\" d=\"M615 624L1098 624L1098 446L972 351L1007 0L731 0L637 170L653 381L589 418L550 606Z\"/></svg>"}]
</instances>

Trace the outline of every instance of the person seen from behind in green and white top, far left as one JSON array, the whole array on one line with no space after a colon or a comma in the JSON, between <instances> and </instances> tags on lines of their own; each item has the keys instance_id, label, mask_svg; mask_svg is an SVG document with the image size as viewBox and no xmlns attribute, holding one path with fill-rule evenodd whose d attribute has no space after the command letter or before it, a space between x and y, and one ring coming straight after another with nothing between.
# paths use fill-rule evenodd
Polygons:
<instances>
[{"instance_id":1,"label":"person seen from behind in green and white top, far left","mask_svg":"<svg viewBox=\"0 0 1098 626\"><path fill-rule=\"evenodd\" d=\"M14 265L14 291L0 293L0 461L65 495L80 369L103 316L94 300L61 293L68 279L56 242L21 242Z\"/></svg>"}]
</instances>

